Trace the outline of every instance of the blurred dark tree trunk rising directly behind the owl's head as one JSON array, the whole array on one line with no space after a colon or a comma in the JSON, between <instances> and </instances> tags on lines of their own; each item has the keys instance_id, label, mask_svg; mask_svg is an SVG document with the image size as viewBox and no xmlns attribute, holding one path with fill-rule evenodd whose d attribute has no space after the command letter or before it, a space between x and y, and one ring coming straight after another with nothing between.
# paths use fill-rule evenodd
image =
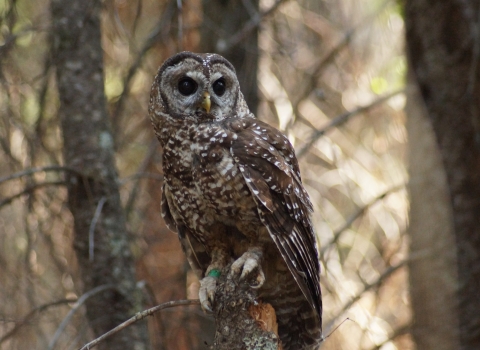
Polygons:
<instances>
[{"instance_id":1,"label":"blurred dark tree trunk rising directly behind the owl's head","mask_svg":"<svg viewBox=\"0 0 480 350\"><path fill-rule=\"evenodd\" d=\"M237 45L230 47L230 39L259 15L259 0L203 0L202 7L200 50L219 53L233 64L248 107L256 114L258 27L249 32ZM227 47L226 51L224 47Z\"/></svg>"}]
</instances>

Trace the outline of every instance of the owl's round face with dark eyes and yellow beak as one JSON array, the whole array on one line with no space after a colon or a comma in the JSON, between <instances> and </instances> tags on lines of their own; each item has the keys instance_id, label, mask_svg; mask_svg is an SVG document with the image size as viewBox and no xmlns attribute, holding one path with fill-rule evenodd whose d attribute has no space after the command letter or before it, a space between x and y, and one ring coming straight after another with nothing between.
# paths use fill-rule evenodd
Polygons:
<instances>
[{"instance_id":1,"label":"owl's round face with dark eyes and yellow beak","mask_svg":"<svg viewBox=\"0 0 480 350\"><path fill-rule=\"evenodd\" d=\"M220 55L181 52L165 61L157 79L157 98L175 118L222 120L235 113L239 83Z\"/></svg>"}]
</instances>

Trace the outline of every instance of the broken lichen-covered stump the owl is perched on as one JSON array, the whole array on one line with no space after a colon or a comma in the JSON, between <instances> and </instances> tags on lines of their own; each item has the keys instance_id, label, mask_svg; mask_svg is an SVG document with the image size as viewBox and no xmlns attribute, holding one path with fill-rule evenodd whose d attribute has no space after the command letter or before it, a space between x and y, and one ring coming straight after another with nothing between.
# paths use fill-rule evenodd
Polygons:
<instances>
[{"instance_id":1,"label":"broken lichen-covered stump the owl is perched on","mask_svg":"<svg viewBox=\"0 0 480 350\"><path fill-rule=\"evenodd\" d=\"M281 350L273 307L257 301L256 289L250 287L248 278L239 282L229 272L230 265L223 270L215 291L213 348Z\"/></svg>"}]
</instances>

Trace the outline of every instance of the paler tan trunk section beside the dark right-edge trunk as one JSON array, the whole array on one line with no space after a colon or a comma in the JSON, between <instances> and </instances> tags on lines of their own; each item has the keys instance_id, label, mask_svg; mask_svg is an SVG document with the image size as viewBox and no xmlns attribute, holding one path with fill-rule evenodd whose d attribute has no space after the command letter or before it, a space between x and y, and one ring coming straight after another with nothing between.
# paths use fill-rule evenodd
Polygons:
<instances>
[{"instance_id":1,"label":"paler tan trunk section beside the dark right-edge trunk","mask_svg":"<svg viewBox=\"0 0 480 350\"><path fill-rule=\"evenodd\" d=\"M459 349L457 260L445 169L419 91L408 88L411 327L418 349Z\"/></svg>"}]
</instances>

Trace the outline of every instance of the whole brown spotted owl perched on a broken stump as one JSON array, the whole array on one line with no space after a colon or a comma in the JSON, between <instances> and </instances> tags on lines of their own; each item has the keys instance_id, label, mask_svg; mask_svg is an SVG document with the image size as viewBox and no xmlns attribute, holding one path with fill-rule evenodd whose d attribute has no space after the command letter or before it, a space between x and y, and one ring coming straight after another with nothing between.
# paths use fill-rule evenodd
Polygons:
<instances>
[{"instance_id":1,"label":"whole brown spotted owl perched on a broken stump","mask_svg":"<svg viewBox=\"0 0 480 350\"><path fill-rule=\"evenodd\" d=\"M211 311L223 268L247 276L277 315L283 349L322 337L319 259L295 152L249 111L217 54L181 52L158 70L149 115L163 148L162 217L178 233ZM253 276L253 279L252 279Z\"/></svg>"}]
</instances>

